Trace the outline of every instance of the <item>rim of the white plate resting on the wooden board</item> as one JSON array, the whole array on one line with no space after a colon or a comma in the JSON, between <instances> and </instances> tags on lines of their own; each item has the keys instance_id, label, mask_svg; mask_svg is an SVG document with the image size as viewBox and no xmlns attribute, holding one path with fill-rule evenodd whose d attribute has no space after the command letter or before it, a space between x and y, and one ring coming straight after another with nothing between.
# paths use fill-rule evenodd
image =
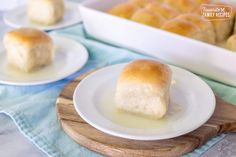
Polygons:
<instances>
[{"instance_id":1,"label":"rim of the white plate resting on the wooden board","mask_svg":"<svg viewBox=\"0 0 236 157\"><path fill-rule=\"evenodd\" d=\"M112 68L114 66L122 66L122 65L126 65L128 63L119 63L119 64L114 64L114 65L110 65L110 66L106 66L106 67L103 67L101 69L98 69L96 70L95 72L89 74L88 76L86 76L85 78L83 78L80 83L76 86L75 90L74 90L74 93L73 93L73 105L74 105L74 108L76 110L76 112L79 114L79 116L86 122L88 123L89 125L91 125L92 127L94 127L95 129L99 130L99 131L102 131L103 133L107 134L107 135L111 135L111 136L115 136L115 137L119 137L119 138L125 138L125 139L130 139L130 140L138 140L138 141L154 141L154 140L165 140L165 139L170 139L170 138L175 138L175 137L179 137L179 136L182 136L182 135L185 135L185 134L188 134L196 129L198 129L199 127L201 127L202 125L204 125L211 117L212 115L214 114L214 111L215 111L215 108L216 108L216 98L215 98L215 94L213 92L213 90L211 89L211 87L205 82L203 81L199 76L197 76L196 74L186 70L186 69L183 69L183 68L180 68L180 67L177 67L177 66L173 66L173 65L169 65L170 67L174 67L174 68L177 68L177 69L180 69L180 70L183 70L193 76L195 76L199 81L201 81L201 83L204 84L205 87L208 88L209 90L209 94L211 95L211 99L212 99L212 107L211 107L211 111L208 111L208 116L205 118L205 120L202 120L202 121L199 121L199 124L198 125L195 125L195 127L192 127L190 129L187 129L185 130L184 132L182 131L181 133L173 133L173 134L170 134L170 135L162 135L161 137L160 136L157 136L157 135L152 135L152 136L139 136L137 137L137 135L130 135L128 133L124 133L124 132L117 132L117 131L114 131L114 130L111 130L109 128L104 128L94 122L92 122L91 120L89 120L89 118L87 118L82 112L80 112L79 108L77 107L78 104L76 102L76 94L77 94L77 91L78 91L78 88L80 87L81 83L83 83L83 81L86 79L88 79L89 77L92 77L93 75L96 74L96 72L99 72L99 71L103 71L105 69L108 69L108 68ZM105 118L105 119L108 119L108 118ZM109 119L108 119L109 120ZM114 122L111 122L113 124L115 124ZM125 127L125 126L123 126Z\"/></svg>"}]
</instances>

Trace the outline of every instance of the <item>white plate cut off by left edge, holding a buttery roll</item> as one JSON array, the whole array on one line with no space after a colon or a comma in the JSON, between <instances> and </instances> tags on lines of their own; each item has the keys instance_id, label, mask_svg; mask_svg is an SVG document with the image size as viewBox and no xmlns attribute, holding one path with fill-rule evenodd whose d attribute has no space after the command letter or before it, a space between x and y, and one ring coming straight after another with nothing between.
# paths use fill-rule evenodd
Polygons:
<instances>
[{"instance_id":1,"label":"white plate cut off by left edge, holding a buttery roll","mask_svg":"<svg viewBox=\"0 0 236 157\"><path fill-rule=\"evenodd\" d=\"M88 52L83 45L58 35L51 37L55 44L54 62L29 74L7 64L6 51L0 43L0 83L19 86L50 83L75 73L85 65Z\"/></svg>"}]
</instances>

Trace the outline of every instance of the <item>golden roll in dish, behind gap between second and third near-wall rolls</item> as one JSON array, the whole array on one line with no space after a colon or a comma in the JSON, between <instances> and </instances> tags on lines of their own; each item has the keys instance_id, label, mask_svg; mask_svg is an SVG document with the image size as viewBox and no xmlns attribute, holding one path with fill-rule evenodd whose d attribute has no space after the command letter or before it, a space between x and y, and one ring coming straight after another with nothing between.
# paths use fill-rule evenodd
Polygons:
<instances>
[{"instance_id":1,"label":"golden roll in dish, behind gap between second and third near-wall rolls","mask_svg":"<svg viewBox=\"0 0 236 157\"><path fill-rule=\"evenodd\" d=\"M166 19L172 19L176 16L178 16L179 12L174 9L173 7L170 7L167 4L160 4L160 3L149 3L146 5L146 9L150 10L154 13L159 13Z\"/></svg>"}]
</instances>

